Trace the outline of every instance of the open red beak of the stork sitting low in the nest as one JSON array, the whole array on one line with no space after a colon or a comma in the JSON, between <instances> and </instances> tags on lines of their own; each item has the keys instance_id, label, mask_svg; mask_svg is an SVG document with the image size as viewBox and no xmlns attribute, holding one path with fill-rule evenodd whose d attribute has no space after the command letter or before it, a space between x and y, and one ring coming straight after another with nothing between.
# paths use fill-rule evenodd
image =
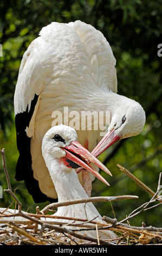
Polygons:
<instances>
[{"instance_id":1,"label":"open red beak of the stork sitting low in the nest","mask_svg":"<svg viewBox=\"0 0 162 256\"><path fill-rule=\"evenodd\" d=\"M94 163L100 169L112 176L111 172L109 172L109 170L79 142L73 141L69 146L64 148L61 147L61 149L66 151L66 156L62 157L61 161L63 161L67 167L82 167L82 169L87 170L96 176L96 178L109 185L108 182L90 165L90 162Z\"/></svg>"}]
</instances>

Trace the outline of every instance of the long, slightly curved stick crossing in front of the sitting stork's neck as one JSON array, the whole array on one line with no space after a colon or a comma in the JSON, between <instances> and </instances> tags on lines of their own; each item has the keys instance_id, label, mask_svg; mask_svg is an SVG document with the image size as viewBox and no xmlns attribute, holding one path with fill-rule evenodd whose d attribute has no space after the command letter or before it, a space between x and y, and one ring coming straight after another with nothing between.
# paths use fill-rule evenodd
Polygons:
<instances>
[{"instance_id":1,"label":"long, slightly curved stick crossing in front of the sitting stork's neck","mask_svg":"<svg viewBox=\"0 0 162 256\"><path fill-rule=\"evenodd\" d=\"M47 205L43 210L40 212L42 214L46 214L50 209L55 209L60 206L68 206L72 204L81 204L81 203L88 203L88 202L112 202L112 201L119 201L119 200L127 200L127 199L137 199L138 196L126 195L126 196L114 196L114 197L89 197L89 198L81 198L76 200L68 200L64 202L57 202Z\"/></svg>"}]
</instances>

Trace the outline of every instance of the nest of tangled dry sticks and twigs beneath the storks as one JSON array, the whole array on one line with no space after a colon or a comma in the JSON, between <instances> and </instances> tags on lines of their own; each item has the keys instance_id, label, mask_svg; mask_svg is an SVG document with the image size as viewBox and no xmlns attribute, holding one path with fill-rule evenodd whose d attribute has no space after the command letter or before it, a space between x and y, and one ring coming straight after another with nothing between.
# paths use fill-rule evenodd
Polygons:
<instances>
[{"instance_id":1,"label":"nest of tangled dry sticks and twigs beneath the storks","mask_svg":"<svg viewBox=\"0 0 162 256\"><path fill-rule=\"evenodd\" d=\"M126 173L129 178L133 179L145 191L152 194L149 202L142 204L139 208L131 212L124 220L118 222L116 218L112 219L103 216L105 223L99 223L94 220L82 220L78 218L58 217L49 215L54 209L60 206L70 204L116 200L136 199L136 196L116 196L116 197L93 197L68 202L53 203L40 210L37 206L36 214L29 214L22 211L22 203L17 199L15 193L11 190L7 166L5 163L4 149L1 150L3 167L8 183L8 190L18 205L18 210L4 209L0 212L0 245L162 245L162 228L146 227L142 223L141 227L129 225L129 220L140 214L144 210L158 206L162 202L160 196L160 181L159 175L157 192L153 192L140 180L135 178L127 169L118 167L122 172ZM152 203L158 204L151 206ZM10 214L9 214L10 212ZM96 216L98 217L98 216ZM46 220L48 218L48 220ZM57 220L54 220L56 218ZM59 221L60 219L60 221ZM51 221L50 221L51 220ZM73 227L73 228L72 228ZM100 239L99 230L112 230L118 236L115 240ZM96 238L87 235L86 231L95 230ZM83 231L83 234L80 234ZM84 234L85 232L85 234ZM78 242L81 241L81 242Z\"/></svg>"}]
</instances>

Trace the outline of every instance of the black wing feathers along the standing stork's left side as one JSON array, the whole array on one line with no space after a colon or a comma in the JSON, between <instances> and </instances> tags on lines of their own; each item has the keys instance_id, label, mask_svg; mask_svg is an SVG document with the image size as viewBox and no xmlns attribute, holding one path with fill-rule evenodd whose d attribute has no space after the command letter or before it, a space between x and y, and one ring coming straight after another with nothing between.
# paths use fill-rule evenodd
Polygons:
<instances>
[{"instance_id":1,"label":"black wing feathers along the standing stork's left side","mask_svg":"<svg viewBox=\"0 0 162 256\"><path fill-rule=\"evenodd\" d=\"M33 170L31 168L31 153L30 153L30 141L31 138L27 136L25 132L26 127L29 127L31 117L34 113L34 109L38 100L38 95L35 94L34 99L31 101L30 111L28 112L28 106L25 112L18 113L15 115L16 125L16 139L17 149L20 153L16 164L16 175L17 181L24 180L25 186L28 192L33 196L35 203L41 202L56 202L57 199L52 199L42 193L38 185L38 181L34 179Z\"/></svg>"}]
</instances>

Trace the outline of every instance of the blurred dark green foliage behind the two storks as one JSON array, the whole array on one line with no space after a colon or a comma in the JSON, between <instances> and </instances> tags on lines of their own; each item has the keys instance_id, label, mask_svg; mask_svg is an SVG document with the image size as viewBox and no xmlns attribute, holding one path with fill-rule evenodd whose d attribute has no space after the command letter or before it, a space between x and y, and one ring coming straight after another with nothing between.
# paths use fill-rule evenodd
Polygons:
<instances>
[{"instance_id":1,"label":"blurred dark green foliage behind the two storks","mask_svg":"<svg viewBox=\"0 0 162 256\"><path fill-rule=\"evenodd\" d=\"M139 199L122 202L97 203L101 215L125 218L132 210L151 199L150 194L123 174L117 163L131 171L138 179L157 190L162 168L162 57L158 57L158 44L162 43L162 1L141 0L15 0L0 2L0 148L5 148L11 186L23 204L23 210L35 211L33 199L24 183L17 182L15 165L18 157L14 124L13 96L18 69L25 50L38 36L42 27L52 21L81 20L99 29L112 46L116 58L118 93L137 100L146 112L146 125L137 137L116 143L100 157L111 170L113 177L101 173L111 185L93 182L92 196L134 194ZM0 160L0 185L7 182ZM9 194L3 192L0 206L12 203ZM47 203L46 203L47 204ZM44 204L39 204L40 208ZM12 204L14 208L15 203ZM114 213L112 212L114 210ZM133 225L161 227L161 207L158 206L131 220Z\"/></svg>"}]
</instances>

